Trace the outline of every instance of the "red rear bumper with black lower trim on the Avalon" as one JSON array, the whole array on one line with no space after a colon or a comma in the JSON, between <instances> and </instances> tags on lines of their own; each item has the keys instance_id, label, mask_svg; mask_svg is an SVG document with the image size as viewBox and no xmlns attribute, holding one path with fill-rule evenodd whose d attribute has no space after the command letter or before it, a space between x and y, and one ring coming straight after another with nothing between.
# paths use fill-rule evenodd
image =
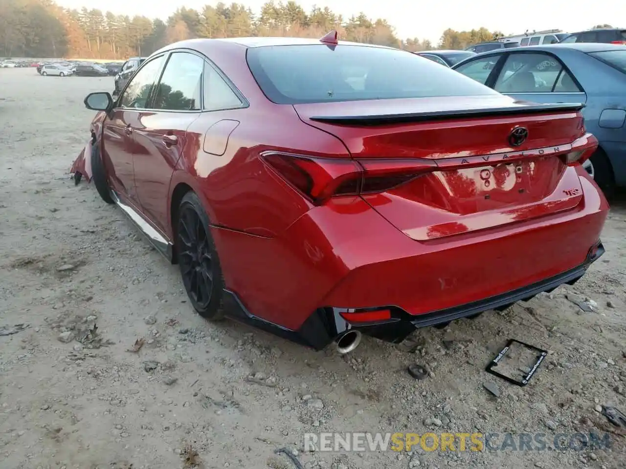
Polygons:
<instances>
[{"instance_id":1,"label":"red rear bumper with black lower trim on the Avalon","mask_svg":"<svg viewBox=\"0 0 626 469\"><path fill-rule=\"evenodd\" d=\"M311 209L281 238L215 230L218 251L237 252L220 259L227 310L319 349L347 328L398 342L415 328L572 284L602 255L602 245L589 253L608 212L597 185L578 173L577 208L444 240L412 240L360 198ZM392 317L349 324L341 316L361 308Z\"/></svg>"}]
</instances>

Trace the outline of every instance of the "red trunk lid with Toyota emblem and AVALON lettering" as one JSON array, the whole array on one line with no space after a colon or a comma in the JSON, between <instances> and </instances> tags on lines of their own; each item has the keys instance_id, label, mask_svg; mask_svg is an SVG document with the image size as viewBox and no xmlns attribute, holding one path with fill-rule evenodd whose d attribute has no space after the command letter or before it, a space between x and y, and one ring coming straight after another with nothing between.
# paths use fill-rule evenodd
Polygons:
<instances>
[{"instance_id":1,"label":"red trunk lid with Toyota emblem and AVALON lettering","mask_svg":"<svg viewBox=\"0 0 626 469\"><path fill-rule=\"evenodd\" d=\"M340 138L366 174L422 168L362 196L406 235L427 241L575 208L582 187L565 155L593 144L582 106L480 96L294 108L305 123Z\"/></svg>"}]
</instances>

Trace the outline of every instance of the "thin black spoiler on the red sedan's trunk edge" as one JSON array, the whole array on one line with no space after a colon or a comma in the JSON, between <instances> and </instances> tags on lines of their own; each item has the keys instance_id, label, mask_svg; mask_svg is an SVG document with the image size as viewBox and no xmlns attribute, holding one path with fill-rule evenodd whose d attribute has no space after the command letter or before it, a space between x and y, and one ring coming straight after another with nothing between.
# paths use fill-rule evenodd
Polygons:
<instances>
[{"instance_id":1,"label":"thin black spoiler on the red sedan's trunk edge","mask_svg":"<svg viewBox=\"0 0 626 469\"><path fill-rule=\"evenodd\" d=\"M459 109L456 111L429 111L425 113L373 114L369 116L312 116L312 121L345 125L384 125L396 123L438 121L443 119L481 118L515 114L541 114L555 112L578 112L583 103L530 104L507 108Z\"/></svg>"}]
</instances>

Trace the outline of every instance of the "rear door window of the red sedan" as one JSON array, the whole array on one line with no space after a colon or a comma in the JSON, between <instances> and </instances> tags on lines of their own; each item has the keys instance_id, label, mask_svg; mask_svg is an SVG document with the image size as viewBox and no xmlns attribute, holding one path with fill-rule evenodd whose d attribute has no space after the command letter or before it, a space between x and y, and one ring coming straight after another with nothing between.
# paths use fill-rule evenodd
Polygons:
<instances>
[{"instance_id":1,"label":"rear door window of the red sedan","mask_svg":"<svg viewBox=\"0 0 626 469\"><path fill-rule=\"evenodd\" d=\"M203 68L204 60L197 55L173 53L165 66L150 107L172 111L199 110Z\"/></svg>"}]
</instances>

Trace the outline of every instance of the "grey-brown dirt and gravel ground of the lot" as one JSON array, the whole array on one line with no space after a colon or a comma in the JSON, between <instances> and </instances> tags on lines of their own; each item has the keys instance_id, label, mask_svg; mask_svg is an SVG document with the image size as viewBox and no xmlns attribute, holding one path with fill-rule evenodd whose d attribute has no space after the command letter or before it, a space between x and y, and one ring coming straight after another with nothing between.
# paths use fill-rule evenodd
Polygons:
<instances>
[{"instance_id":1,"label":"grey-brown dirt and gravel ground of the lot","mask_svg":"<svg viewBox=\"0 0 626 469\"><path fill-rule=\"evenodd\" d=\"M607 253L573 287L403 346L310 351L200 318L177 266L93 185L74 186L83 99L112 87L0 69L0 328L25 323L0 335L3 469L297 468L279 448L307 469L626 467L625 437L598 411L626 412L623 198ZM549 351L526 387L485 372L509 338ZM545 433L548 448L304 451L306 431L495 432L500 449L503 433ZM552 450L556 433L607 431L611 448Z\"/></svg>"}]
</instances>

